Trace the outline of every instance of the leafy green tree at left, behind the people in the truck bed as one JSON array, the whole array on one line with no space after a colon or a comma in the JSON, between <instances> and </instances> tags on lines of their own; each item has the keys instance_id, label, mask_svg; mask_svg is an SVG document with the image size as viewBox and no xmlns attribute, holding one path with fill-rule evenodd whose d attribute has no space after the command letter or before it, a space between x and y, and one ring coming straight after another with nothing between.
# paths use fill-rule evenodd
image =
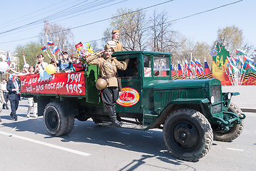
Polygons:
<instances>
[{"instance_id":1,"label":"leafy green tree at left, behind the people in the truck bed","mask_svg":"<svg viewBox=\"0 0 256 171\"><path fill-rule=\"evenodd\" d=\"M41 44L36 42L26 43L26 45L19 45L15 49L16 56L19 58L18 67L19 71L22 71L24 58L23 52L26 59L26 63L29 65L35 65L37 63L37 55L43 54L44 61L49 62L49 58L47 57L47 53L41 50Z\"/></svg>"}]
</instances>

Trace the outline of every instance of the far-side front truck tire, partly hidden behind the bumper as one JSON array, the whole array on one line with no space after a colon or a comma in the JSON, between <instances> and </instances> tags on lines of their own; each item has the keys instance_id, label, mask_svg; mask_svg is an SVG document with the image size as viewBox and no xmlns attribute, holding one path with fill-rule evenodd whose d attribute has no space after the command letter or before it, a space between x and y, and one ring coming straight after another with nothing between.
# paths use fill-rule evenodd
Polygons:
<instances>
[{"instance_id":1,"label":"far-side front truck tire, partly hidden behind the bumper","mask_svg":"<svg viewBox=\"0 0 256 171\"><path fill-rule=\"evenodd\" d=\"M232 112L237 114L238 116L242 116L242 110L237 107L234 103L230 103L228 107L228 112ZM242 133L244 128L244 120L241 120L240 124L235 124L230 130L213 130L213 138L218 141L230 142L235 140Z\"/></svg>"}]
</instances>

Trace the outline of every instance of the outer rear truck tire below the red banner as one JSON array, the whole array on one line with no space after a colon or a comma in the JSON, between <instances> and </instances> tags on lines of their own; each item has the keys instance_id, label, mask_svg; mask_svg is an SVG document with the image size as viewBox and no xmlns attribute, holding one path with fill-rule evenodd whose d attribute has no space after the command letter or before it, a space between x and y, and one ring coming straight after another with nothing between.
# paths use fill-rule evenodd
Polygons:
<instances>
[{"instance_id":1,"label":"outer rear truck tire below the red banner","mask_svg":"<svg viewBox=\"0 0 256 171\"><path fill-rule=\"evenodd\" d=\"M61 136L67 130L68 117L64 115L61 103L51 102L43 111L44 125L48 133Z\"/></svg>"}]
</instances>

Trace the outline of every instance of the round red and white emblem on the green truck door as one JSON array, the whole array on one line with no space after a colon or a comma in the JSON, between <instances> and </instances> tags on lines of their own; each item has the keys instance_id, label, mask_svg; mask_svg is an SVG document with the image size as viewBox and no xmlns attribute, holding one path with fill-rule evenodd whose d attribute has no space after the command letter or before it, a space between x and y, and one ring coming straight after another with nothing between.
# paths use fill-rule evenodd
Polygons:
<instances>
[{"instance_id":1,"label":"round red and white emblem on the green truck door","mask_svg":"<svg viewBox=\"0 0 256 171\"><path fill-rule=\"evenodd\" d=\"M122 92L119 93L116 103L128 107L138 103L138 100L140 100L140 95L137 90L133 88L122 88Z\"/></svg>"}]
</instances>

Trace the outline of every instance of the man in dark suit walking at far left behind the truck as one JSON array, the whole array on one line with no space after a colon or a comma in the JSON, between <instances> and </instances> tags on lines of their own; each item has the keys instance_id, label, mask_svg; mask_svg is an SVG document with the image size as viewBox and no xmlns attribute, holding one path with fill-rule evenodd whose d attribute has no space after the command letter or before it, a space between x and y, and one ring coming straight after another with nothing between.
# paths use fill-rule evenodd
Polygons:
<instances>
[{"instance_id":1,"label":"man in dark suit walking at far left behind the truck","mask_svg":"<svg viewBox=\"0 0 256 171\"><path fill-rule=\"evenodd\" d=\"M7 82L7 90L9 92L8 100L11 103L11 119L15 121L18 119L16 110L19 106L19 81L16 79L17 76L13 76L11 80Z\"/></svg>"}]
</instances>

